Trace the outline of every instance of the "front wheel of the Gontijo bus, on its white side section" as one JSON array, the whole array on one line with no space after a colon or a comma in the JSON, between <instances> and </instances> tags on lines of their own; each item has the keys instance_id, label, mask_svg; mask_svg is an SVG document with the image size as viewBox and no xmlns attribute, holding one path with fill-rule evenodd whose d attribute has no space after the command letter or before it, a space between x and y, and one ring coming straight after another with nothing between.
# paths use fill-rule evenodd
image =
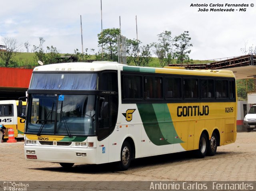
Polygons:
<instances>
[{"instance_id":1,"label":"front wheel of the Gontijo bus, on its white side section","mask_svg":"<svg viewBox=\"0 0 256 191\"><path fill-rule=\"evenodd\" d=\"M121 160L118 163L118 167L121 171L127 170L131 163L132 150L129 142L124 141L121 148Z\"/></svg>"}]
</instances>

